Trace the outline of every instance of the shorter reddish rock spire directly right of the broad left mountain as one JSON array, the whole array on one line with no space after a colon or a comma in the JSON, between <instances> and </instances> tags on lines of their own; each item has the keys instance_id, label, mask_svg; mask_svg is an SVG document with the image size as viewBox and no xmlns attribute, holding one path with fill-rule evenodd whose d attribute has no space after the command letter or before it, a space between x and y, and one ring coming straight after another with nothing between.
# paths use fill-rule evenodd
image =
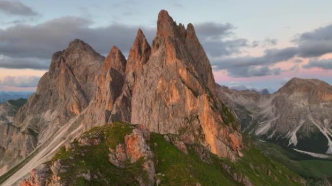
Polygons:
<instances>
[{"instance_id":1,"label":"shorter reddish rock spire directly right of the broad left mountain","mask_svg":"<svg viewBox=\"0 0 332 186\"><path fill-rule=\"evenodd\" d=\"M85 129L93 126L101 126L108 123L112 118L117 118L113 110L116 110L116 100L119 98L124 85L124 72L127 60L121 51L114 46L105 58L100 75L97 78L96 94L86 110L83 119ZM119 98L121 99L121 98ZM124 105L125 106L125 105ZM129 114L125 112L124 115Z\"/></svg>"}]
</instances>

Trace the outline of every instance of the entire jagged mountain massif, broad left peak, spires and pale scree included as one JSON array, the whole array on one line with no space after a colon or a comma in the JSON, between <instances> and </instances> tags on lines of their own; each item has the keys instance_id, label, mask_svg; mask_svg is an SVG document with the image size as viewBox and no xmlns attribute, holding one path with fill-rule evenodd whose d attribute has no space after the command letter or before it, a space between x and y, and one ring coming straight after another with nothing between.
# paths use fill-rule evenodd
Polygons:
<instances>
[{"instance_id":1,"label":"entire jagged mountain massif, broad left peak, spires and pale scree included","mask_svg":"<svg viewBox=\"0 0 332 186\"><path fill-rule=\"evenodd\" d=\"M240 125L217 98L193 25L185 29L162 10L152 46L138 30L128 60L115 46L104 58L80 40L52 56L50 71L14 119L18 130L0 169L16 166L2 176L3 185L17 183L84 131L114 121L177 134L232 160L246 148Z\"/></svg>"}]
</instances>

